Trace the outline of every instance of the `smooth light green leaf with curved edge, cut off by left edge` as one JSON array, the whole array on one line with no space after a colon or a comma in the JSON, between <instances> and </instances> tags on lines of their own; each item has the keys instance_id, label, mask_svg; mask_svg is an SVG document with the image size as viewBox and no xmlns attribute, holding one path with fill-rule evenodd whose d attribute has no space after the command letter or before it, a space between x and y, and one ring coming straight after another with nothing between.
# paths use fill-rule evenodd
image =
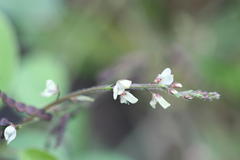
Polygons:
<instances>
[{"instance_id":1,"label":"smooth light green leaf with curved edge, cut off by left edge","mask_svg":"<svg viewBox=\"0 0 240 160\"><path fill-rule=\"evenodd\" d=\"M0 12L0 89L8 90L18 64L18 46L12 25Z\"/></svg>"}]
</instances>

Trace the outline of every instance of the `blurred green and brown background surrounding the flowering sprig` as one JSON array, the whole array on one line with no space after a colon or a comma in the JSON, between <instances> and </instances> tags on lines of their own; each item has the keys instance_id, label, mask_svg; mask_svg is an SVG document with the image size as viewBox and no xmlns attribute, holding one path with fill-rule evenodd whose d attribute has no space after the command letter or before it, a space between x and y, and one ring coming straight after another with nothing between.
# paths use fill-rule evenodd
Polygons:
<instances>
[{"instance_id":1,"label":"blurred green and brown background surrounding the flowering sprig","mask_svg":"<svg viewBox=\"0 0 240 160\"><path fill-rule=\"evenodd\" d=\"M41 108L45 80L62 95L118 79L152 82L172 68L183 89L221 94L219 101L135 105L112 93L68 120L54 147L51 123L18 131L1 160L226 160L240 156L240 1L238 0L0 0L0 89ZM0 118L22 115L1 104Z\"/></svg>"}]
</instances>

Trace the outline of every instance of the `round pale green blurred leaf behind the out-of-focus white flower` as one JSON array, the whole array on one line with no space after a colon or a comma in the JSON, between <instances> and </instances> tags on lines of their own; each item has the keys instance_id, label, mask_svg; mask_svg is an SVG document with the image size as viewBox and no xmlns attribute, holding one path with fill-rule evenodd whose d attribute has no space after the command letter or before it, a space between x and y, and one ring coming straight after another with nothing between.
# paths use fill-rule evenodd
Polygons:
<instances>
[{"instance_id":1,"label":"round pale green blurred leaf behind the out-of-focus white flower","mask_svg":"<svg viewBox=\"0 0 240 160\"><path fill-rule=\"evenodd\" d=\"M37 107L42 107L56 98L40 95L46 87L46 80L55 81L63 94L69 86L66 67L57 58L41 53L37 52L24 59L14 83L16 98Z\"/></svg>"}]
</instances>

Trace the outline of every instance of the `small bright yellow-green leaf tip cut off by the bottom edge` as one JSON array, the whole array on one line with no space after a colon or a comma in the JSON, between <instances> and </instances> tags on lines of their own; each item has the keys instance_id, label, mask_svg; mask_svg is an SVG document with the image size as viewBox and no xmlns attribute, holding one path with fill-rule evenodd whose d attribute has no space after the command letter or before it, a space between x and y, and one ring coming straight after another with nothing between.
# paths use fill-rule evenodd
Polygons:
<instances>
[{"instance_id":1,"label":"small bright yellow-green leaf tip cut off by the bottom edge","mask_svg":"<svg viewBox=\"0 0 240 160\"><path fill-rule=\"evenodd\" d=\"M57 158L47 151L28 149L22 152L21 160L57 160Z\"/></svg>"}]
</instances>

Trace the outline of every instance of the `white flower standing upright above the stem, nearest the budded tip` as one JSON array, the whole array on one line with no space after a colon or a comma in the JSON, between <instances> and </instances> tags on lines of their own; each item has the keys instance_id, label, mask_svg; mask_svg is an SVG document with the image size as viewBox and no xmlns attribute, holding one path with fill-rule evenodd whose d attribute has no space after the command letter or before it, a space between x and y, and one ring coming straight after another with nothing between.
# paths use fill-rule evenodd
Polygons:
<instances>
[{"instance_id":1,"label":"white flower standing upright above the stem, nearest the budded tip","mask_svg":"<svg viewBox=\"0 0 240 160\"><path fill-rule=\"evenodd\" d=\"M171 85L173 83L173 74L171 74L171 69L164 69L162 73L155 78L154 82L162 85Z\"/></svg>"}]
</instances>

